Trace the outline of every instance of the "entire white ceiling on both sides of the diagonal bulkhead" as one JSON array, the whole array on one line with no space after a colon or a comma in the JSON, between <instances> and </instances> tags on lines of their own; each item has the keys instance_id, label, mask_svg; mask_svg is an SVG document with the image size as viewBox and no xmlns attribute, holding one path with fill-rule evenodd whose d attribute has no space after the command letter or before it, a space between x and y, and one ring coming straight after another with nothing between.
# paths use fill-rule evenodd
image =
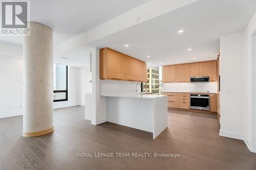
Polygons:
<instances>
[{"instance_id":1,"label":"entire white ceiling on both sides of the diagonal bulkhead","mask_svg":"<svg viewBox=\"0 0 256 170\"><path fill-rule=\"evenodd\" d=\"M31 1L31 20L52 27L56 45L147 1ZM243 31L255 12L255 0L200 0L98 39L88 46L111 47L146 61L147 66L216 59L220 37ZM180 29L184 33L178 34ZM1 41L22 44L22 37L0 36ZM129 44L129 47L124 47L125 44ZM188 52L188 48L193 50ZM54 62L89 67L89 54L88 47L80 47L55 54Z\"/></svg>"}]
</instances>

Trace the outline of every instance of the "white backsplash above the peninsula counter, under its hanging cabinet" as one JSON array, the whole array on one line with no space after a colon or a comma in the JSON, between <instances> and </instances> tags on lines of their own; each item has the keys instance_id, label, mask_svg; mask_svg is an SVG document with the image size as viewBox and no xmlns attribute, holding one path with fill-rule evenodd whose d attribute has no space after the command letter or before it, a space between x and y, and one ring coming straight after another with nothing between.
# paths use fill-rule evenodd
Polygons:
<instances>
[{"instance_id":1,"label":"white backsplash above the peninsula counter, under its hanging cabinet","mask_svg":"<svg viewBox=\"0 0 256 170\"><path fill-rule=\"evenodd\" d=\"M115 93L135 93L137 83L140 83L140 82L101 80L100 95L115 94ZM138 85L138 90L140 90L139 85Z\"/></svg>"}]
</instances>

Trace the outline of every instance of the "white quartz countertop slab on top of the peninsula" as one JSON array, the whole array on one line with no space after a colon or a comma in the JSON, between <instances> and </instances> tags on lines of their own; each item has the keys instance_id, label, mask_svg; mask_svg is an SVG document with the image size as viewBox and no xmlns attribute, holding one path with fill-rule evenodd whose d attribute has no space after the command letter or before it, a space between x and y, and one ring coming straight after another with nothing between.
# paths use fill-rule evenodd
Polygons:
<instances>
[{"instance_id":1,"label":"white quartz countertop slab on top of the peninsula","mask_svg":"<svg viewBox=\"0 0 256 170\"><path fill-rule=\"evenodd\" d=\"M103 94L102 96L116 97L116 98L136 98L136 99L155 99L162 98L166 95L159 94L136 94L136 93L120 93L120 94Z\"/></svg>"}]
</instances>

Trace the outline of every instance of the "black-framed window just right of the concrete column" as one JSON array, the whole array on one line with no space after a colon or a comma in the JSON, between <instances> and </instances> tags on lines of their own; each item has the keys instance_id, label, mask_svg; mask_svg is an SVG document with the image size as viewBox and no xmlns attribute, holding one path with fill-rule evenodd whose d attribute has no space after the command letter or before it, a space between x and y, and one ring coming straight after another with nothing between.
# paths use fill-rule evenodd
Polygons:
<instances>
[{"instance_id":1,"label":"black-framed window just right of the concrete column","mask_svg":"<svg viewBox=\"0 0 256 170\"><path fill-rule=\"evenodd\" d=\"M68 101L68 66L53 65L53 102Z\"/></svg>"}]
</instances>

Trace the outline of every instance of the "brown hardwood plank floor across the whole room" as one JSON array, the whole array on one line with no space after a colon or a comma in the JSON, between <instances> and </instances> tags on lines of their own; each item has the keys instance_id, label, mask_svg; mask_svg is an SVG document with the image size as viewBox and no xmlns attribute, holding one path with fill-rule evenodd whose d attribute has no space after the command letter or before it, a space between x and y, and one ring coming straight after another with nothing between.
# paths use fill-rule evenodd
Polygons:
<instances>
[{"instance_id":1,"label":"brown hardwood plank floor across the whole room","mask_svg":"<svg viewBox=\"0 0 256 170\"><path fill-rule=\"evenodd\" d=\"M83 107L54 110L55 130L22 137L22 116L0 119L0 169L256 169L242 140L219 136L216 115L169 110L168 129L152 134L111 123L93 126ZM77 153L178 153L179 158L83 157Z\"/></svg>"}]
</instances>

